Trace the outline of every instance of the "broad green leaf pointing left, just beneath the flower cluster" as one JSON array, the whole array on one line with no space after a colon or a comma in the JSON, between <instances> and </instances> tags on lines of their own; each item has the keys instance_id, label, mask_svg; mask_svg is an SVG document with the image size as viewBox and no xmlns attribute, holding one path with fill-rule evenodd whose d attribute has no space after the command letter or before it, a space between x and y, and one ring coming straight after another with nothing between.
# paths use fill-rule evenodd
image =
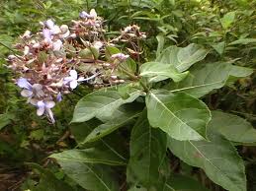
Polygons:
<instances>
[{"instance_id":1,"label":"broad green leaf pointing left, just beneath the flower cluster","mask_svg":"<svg viewBox=\"0 0 256 191\"><path fill-rule=\"evenodd\" d=\"M72 122L84 122L97 117L110 118L122 104L132 102L141 95L138 90L130 90L124 99L115 88L102 89L81 98L75 106Z\"/></svg>"}]
</instances>

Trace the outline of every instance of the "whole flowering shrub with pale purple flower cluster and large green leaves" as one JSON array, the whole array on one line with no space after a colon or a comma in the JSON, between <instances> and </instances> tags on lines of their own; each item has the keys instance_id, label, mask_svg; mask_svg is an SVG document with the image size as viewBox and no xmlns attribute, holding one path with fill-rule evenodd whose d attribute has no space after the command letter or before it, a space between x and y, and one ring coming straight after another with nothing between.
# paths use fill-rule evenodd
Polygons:
<instances>
[{"instance_id":1,"label":"whole flowering shrub with pale purple flower cluster and large green leaves","mask_svg":"<svg viewBox=\"0 0 256 191\"><path fill-rule=\"evenodd\" d=\"M224 86L233 87L253 70L235 65L236 60L229 57L213 56L213 50L223 54L221 42L211 47L167 46L166 38L176 41L168 33L179 29L166 26L164 19L142 18L161 20L160 31L165 34L157 36L157 50L150 52L156 55L151 58L143 54L145 33L136 25L113 36L105 32L104 20L95 10L81 12L79 17L70 27L47 20L41 32L25 32L16 45L22 54L7 59L21 95L52 123L56 102L78 85L92 88L73 112L70 138L76 148L49 156L69 179L34 164L47 174L36 190L48 185L53 190L208 190L176 173L178 158L201 168L225 190L246 191L244 161L234 146L255 145L256 130L205 100ZM233 20L234 13L221 18L225 32ZM197 35L200 38L202 33ZM212 43L212 38L204 40L203 44Z\"/></svg>"}]
</instances>

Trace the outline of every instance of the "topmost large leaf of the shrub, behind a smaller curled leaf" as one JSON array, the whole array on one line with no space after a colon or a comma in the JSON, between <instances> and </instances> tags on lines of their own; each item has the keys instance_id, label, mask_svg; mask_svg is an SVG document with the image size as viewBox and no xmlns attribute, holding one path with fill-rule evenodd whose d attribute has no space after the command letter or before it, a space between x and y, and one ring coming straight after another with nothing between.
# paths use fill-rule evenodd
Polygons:
<instances>
[{"instance_id":1,"label":"topmost large leaf of the shrub, behind a smaller curled leaf","mask_svg":"<svg viewBox=\"0 0 256 191\"><path fill-rule=\"evenodd\" d=\"M193 64L203 60L207 54L208 50L194 43L184 48L170 46L156 58L156 61L165 64L171 64L179 72L184 72Z\"/></svg>"}]
</instances>

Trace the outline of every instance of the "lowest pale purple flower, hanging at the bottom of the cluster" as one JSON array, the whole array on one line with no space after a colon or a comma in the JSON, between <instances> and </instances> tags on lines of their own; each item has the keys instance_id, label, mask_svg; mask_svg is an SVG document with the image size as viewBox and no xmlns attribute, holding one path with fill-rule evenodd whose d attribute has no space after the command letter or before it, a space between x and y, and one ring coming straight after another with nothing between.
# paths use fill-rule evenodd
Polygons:
<instances>
[{"instance_id":1,"label":"lowest pale purple flower, hanging at the bottom of the cluster","mask_svg":"<svg viewBox=\"0 0 256 191\"><path fill-rule=\"evenodd\" d=\"M55 123L55 119L53 117L53 113L50 110L55 106L55 102L52 100L39 100L37 102L37 115L42 116L45 114L52 123Z\"/></svg>"}]
</instances>

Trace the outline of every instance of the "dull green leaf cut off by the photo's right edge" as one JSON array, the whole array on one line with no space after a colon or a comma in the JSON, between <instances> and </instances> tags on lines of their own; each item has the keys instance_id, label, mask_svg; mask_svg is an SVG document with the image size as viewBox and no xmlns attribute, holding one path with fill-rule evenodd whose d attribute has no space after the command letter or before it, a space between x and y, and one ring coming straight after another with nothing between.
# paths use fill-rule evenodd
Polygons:
<instances>
[{"instance_id":1,"label":"dull green leaf cut off by the photo's right edge","mask_svg":"<svg viewBox=\"0 0 256 191\"><path fill-rule=\"evenodd\" d=\"M248 121L236 115L213 111L213 119L208 128L218 131L232 142L256 143L256 129Z\"/></svg>"}]
</instances>

